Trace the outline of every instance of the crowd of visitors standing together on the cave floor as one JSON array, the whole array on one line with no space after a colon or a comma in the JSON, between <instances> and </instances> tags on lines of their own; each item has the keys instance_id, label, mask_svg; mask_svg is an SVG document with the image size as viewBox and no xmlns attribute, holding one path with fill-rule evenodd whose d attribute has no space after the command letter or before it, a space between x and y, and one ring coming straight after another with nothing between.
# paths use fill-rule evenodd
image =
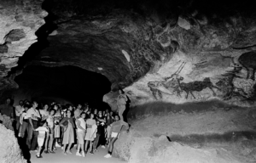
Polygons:
<instances>
[{"instance_id":1,"label":"crowd of visitors standing together on the cave floor","mask_svg":"<svg viewBox=\"0 0 256 163\"><path fill-rule=\"evenodd\" d=\"M113 143L119 132L128 131L129 125L111 110L91 109L88 104L38 104L36 101L20 100L12 112L10 99L0 106L0 113L15 121L17 138L26 141L30 153L37 158L43 154L54 154L56 148L63 155L85 157L93 155L98 147L108 148L105 158L112 157Z\"/></svg>"}]
</instances>

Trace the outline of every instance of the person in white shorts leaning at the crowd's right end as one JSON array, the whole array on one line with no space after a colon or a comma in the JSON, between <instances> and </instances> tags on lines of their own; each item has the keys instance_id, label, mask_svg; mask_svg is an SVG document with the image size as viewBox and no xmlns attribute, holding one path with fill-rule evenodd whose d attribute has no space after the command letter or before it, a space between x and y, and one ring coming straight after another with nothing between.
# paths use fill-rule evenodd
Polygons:
<instances>
[{"instance_id":1,"label":"person in white shorts leaning at the crowd's right end","mask_svg":"<svg viewBox=\"0 0 256 163\"><path fill-rule=\"evenodd\" d=\"M129 125L125 121L119 121L119 115L115 115L115 122L111 125L111 135L110 135L110 143L108 145L108 155L105 155L105 158L110 158L112 157L112 151L113 151L113 143L119 138L119 133L122 130L126 130L128 132L129 130Z\"/></svg>"}]
</instances>

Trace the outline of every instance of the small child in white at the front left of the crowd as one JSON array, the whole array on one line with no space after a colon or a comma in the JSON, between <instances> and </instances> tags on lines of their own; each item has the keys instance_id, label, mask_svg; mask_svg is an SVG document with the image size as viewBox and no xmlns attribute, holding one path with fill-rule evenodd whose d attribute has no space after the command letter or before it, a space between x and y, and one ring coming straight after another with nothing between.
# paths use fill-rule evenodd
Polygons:
<instances>
[{"instance_id":1,"label":"small child in white at the front left of the crowd","mask_svg":"<svg viewBox=\"0 0 256 163\"><path fill-rule=\"evenodd\" d=\"M39 127L36 129L36 131L38 131L38 153L37 153L37 157L38 158L43 158L41 155L41 150L42 150L42 146L44 145L44 138L45 138L45 133L49 132L49 130L47 129L47 122L45 121L41 121L39 124Z\"/></svg>"}]
</instances>

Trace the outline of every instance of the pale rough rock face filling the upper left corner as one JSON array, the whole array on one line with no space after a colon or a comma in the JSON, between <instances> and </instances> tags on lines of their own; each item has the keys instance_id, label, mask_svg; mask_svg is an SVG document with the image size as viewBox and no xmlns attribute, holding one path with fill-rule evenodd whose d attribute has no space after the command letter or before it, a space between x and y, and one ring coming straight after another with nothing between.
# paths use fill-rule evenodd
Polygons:
<instances>
[{"instance_id":1,"label":"pale rough rock face filling the upper left corner","mask_svg":"<svg viewBox=\"0 0 256 163\"><path fill-rule=\"evenodd\" d=\"M41 8L42 0L0 1L0 90L18 87L14 82L19 58L37 42L35 32L44 25L47 13Z\"/></svg>"}]
</instances>

